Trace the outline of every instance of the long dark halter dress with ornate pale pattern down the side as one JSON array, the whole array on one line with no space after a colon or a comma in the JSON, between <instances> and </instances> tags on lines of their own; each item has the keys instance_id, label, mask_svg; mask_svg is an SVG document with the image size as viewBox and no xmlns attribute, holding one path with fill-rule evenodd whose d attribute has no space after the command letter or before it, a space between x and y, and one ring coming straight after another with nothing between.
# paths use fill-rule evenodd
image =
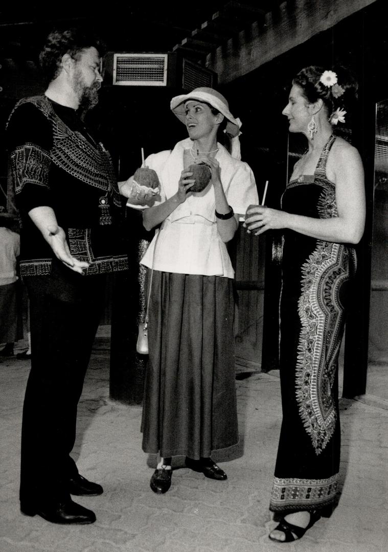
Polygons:
<instances>
[{"instance_id":1,"label":"long dark halter dress with ornate pale pattern down the side","mask_svg":"<svg viewBox=\"0 0 388 552\"><path fill-rule=\"evenodd\" d=\"M335 136L315 173L290 181L288 213L337 216L336 188L326 176ZM347 288L355 272L352 247L286 230L281 254L280 384L283 407L270 509L283 514L332 505L338 486L340 427L338 353Z\"/></svg>"}]
</instances>

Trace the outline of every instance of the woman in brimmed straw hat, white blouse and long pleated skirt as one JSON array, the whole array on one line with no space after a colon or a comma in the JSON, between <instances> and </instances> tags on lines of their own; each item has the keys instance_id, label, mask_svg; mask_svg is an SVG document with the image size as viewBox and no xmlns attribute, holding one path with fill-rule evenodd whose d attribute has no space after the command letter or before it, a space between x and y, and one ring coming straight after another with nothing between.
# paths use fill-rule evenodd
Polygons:
<instances>
[{"instance_id":1,"label":"woman in brimmed straw hat, white blouse and long pleated skirt","mask_svg":"<svg viewBox=\"0 0 388 552\"><path fill-rule=\"evenodd\" d=\"M239 215L257 203L253 173L239 158L240 121L226 99L196 88L174 97L171 109L189 137L146 159L161 192L143 211L143 224L147 230L163 226L141 260L153 268L142 448L159 455L150 483L157 493L168 491L176 455L206 477L227 478L211 460L215 450L238 442L234 272L225 243ZM221 130L231 136L235 157L217 142ZM210 182L192 192L189 167L200 162L210 168Z\"/></svg>"}]
</instances>

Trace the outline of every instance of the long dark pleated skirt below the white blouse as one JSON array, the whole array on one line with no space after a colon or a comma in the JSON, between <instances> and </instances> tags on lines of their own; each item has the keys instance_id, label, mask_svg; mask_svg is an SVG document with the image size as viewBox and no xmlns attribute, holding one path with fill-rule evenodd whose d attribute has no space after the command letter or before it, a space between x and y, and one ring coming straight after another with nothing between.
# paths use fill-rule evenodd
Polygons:
<instances>
[{"instance_id":1,"label":"long dark pleated skirt below the white blouse","mask_svg":"<svg viewBox=\"0 0 388 552\"><path fill-rule=\"evenodd\" d=\"M154 270L144 452L199 459L238 442L232 285Z\"/></svg>"}]
</instances>

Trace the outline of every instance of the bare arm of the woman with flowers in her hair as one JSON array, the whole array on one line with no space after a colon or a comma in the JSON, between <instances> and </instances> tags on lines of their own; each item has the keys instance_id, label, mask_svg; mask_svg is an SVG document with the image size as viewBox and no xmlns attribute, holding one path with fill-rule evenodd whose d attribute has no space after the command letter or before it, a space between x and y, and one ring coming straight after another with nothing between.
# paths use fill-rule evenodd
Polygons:
<instances>
[{"instance_id":1,"label":"bare arm of the woman with flowers in her hair","mask_svg":"<svg viewBox=\"0 0 388 552\"><path fill-rule=\"evenodd\" d=\"M319 240L358 243L365 224L364 169L358 151L347 145L336 152L336 217L315 219L312 217L285 213L260 205L247 209L245 226L259 235L266 230L289 228Z\"/></svg>"}]
</instances>

